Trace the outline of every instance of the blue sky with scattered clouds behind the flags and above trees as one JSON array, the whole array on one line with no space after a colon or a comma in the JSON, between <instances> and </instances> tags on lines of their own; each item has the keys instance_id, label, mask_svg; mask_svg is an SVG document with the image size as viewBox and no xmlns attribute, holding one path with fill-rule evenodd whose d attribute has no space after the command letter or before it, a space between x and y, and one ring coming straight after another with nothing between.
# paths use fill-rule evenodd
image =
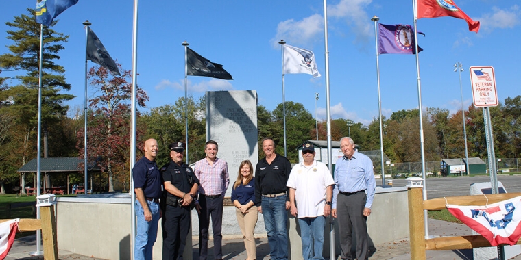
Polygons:
<instances>
[{"instance_id":1,"label":"blue sky with scattered clouds behind the flags and above trees","mask_svg":"<svg viewBox=\"0 0 521 260\"><path fill-rule=\"evenodd\" d=\"M517 1L458 0L456 4L481 22L478 34L468 31L464 20L421 18L417 30L422 107L439 107L455 113L472 105L470 66L493 66L498 99L521 94L517 62L521 55L521 10ZM64 66L68 92L75 99L66 105L82 109L85 79L86 20L110 55L125 70L132 67L134 3L129 0L80 0L58 16L53 29L69 35L57 64ZM5 22L28 14L36 0L1 1L0 53L14 44L6 37L12 30ZM330 112L332 119L345 118L368 125L378 118L376 43L372 16L387 25L413 25L412 1L327 1ZM307 74L284 76L286 101L304 104L319 120L326 119L326 45L324 1L138 1L137 83L149 96L142 112L173 104L184 97L184 47L212 62L222 64L234 78L226 81L189 76L189 94L195 99L206 91L256 90L258 104L273 110L282 103L282 51L280 40L315 53L321 77ZM415 55L379 55L380 95L383 116L418 107ZM88 62L88 67L97 66ZM3 71L1 77L14 73ZM8 82L9 83L9 82ZM10 82L14 83L14 82ZM315 100L319 93L319 100ZM97 93L89 88L88 96ZM315 106L317 109L315 110Z\"/></svg>"}]
</instances>

